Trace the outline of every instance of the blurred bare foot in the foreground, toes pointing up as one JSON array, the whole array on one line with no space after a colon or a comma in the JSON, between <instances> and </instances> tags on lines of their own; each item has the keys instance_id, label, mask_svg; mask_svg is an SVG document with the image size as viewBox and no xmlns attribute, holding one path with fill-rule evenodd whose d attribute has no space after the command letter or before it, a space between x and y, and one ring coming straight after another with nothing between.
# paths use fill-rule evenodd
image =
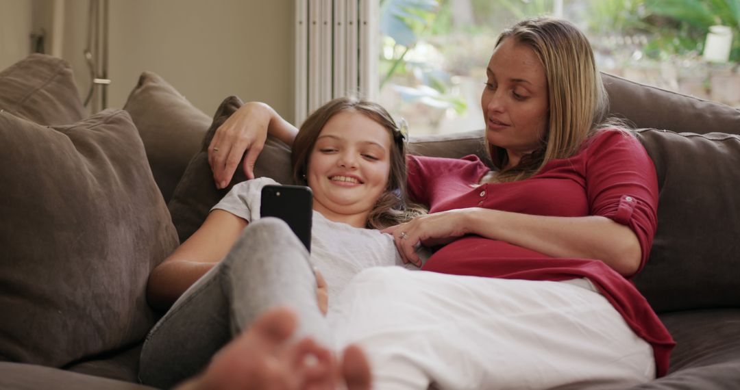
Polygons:
<instances>
[{"instance_id":1,"label":"blurred bare foot in the foreground, toes pointing up","mask_svg":"<svg viewBox=\"0 0 740 390\"><path fill-rule=\"evenodd\" d=\"M265 312L224 346L205 372L177 389L370 389L370 366L357 346L349 346L337 363L329 349L310 338L288 343L296 327L289 309Z\"/></svg>"}]
</instances>

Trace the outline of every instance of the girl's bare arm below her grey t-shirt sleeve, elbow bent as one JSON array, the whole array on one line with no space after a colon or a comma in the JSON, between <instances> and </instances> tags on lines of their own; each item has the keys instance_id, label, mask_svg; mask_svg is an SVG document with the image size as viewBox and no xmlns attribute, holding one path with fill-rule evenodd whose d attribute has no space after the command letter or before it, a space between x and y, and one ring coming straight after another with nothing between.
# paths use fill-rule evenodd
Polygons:
<instances>
[{"instance_id":1,"label":"girl's bare arm below her grey t-shirt sleeve, elbow bent","mask_svg":"<svg viewBox=\"0 0 740 390\"><path fill-rule=\"evenodd\" d=\"M221 261L247 222L226 211L214 210L198 230L152 270L147 300L152 307L168 309L198 278Z\"/></svg>"}]
</instances>

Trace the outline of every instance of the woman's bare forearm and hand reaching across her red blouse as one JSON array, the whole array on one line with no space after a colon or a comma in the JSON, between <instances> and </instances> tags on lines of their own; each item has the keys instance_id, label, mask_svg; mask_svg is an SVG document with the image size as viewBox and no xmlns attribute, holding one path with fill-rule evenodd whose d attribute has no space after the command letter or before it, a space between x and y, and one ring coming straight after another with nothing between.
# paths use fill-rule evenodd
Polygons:
<instances>
[{"instance_id":1,"label":"woman's bare forearm and hand reaching across her red blouse","mask_svg":"<svg viewBox=\"0 0 740 390\"><path fill-rule=\"evenodd\" d=\"M420 264L414 246L477 234L553 257L598 259L623 276L639 268L642 249L635 233L604 216L536 216L485 208L465 208L420 216L387 230L404 261ZM401 233L406 232L404 238Z\"/></svg>"}]
</instances>

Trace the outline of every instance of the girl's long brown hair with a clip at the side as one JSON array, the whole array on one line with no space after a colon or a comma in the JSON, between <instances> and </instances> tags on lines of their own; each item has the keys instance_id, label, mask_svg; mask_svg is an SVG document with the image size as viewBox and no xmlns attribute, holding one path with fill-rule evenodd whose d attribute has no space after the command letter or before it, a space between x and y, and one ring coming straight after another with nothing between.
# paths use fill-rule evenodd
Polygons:
<instances>
[{"instance_id":1,"label":"girl's long brown hair with a clip at the side","mask_svg":"<svg viewBox=\"0 0 740 390\"><path fill-rule=\"evenodd\" d=\"M408 202L406 197L406 136L401 134L395 121L383 106L357 98L337 98L314 111L300 126L293 141L291 160L293 179L306 185L309 158L321 130L334 115L344 111L354 111L369 117L388 129L391 134L391 169L386 191L380 194L369 213L366 226L383 229L425 213L420 205Z\"/></svg>"}]
</instances>

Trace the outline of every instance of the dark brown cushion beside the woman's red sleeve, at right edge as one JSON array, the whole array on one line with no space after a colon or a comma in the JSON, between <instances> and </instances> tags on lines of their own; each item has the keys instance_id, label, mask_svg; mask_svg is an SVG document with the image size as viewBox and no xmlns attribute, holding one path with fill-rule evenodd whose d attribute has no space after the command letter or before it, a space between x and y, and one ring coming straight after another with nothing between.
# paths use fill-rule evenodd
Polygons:
<instances>
[{"instance_id":1,"label":"dark brown cushion beside the woman's red sleeve, at right edge","mask_svg":"<svg viewBox=\"0 0 740 390\"><path fill-rule=\"evenodd\" d=\"M658 230L634 277L658 312L738 307L740 136L642 129L656 165Z\"/></svg>"}]
</instances>

